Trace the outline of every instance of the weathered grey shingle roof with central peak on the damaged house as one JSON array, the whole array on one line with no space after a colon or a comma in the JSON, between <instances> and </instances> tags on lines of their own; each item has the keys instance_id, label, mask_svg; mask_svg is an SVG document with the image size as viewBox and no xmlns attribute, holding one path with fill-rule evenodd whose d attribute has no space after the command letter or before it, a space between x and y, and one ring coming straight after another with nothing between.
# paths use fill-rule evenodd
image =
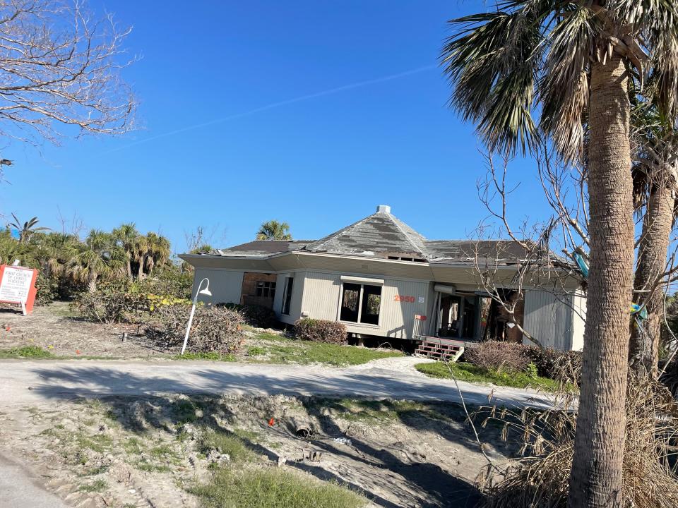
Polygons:
<instances>
[{"instance_id":1,"label":"weathered grey shingle roof with central peak on the damaged house","mask_svg":"<svg viewBox=\"0 0 678 508\"><path fill-rule=\"evenodd\" d=\"M515 241L427 240L379 205L376 213L320 240L256 240L203 255L266 259L290 252L385 258L430 264L515 265L529 253Z\"/></svg>"}]
</instances>

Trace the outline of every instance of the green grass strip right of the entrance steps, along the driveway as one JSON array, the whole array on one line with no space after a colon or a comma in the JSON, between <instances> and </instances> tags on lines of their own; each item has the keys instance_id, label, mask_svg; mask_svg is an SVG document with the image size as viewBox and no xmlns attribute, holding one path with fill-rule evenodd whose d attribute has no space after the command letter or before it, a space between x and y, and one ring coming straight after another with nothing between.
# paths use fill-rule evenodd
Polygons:
<instances>
[{"instance_id":1,"label":"green grass strip right of the entrance steps, along the driveway","mask_svg":"<svg viewBox=\"0 0 678 508\"><path fill-rule=\"evenodd\" d=\"M430 377L439 377L441 379L452 379L452 375L447 366L450 366L454 377L459 381L494 383L494 385L508 386L514 388L541 388L549 392L558 389L557 381L548 377L530 377L527 373L498 373L487 370L471 363L417 363L415 368Z\"/></svg>"}]
</instances>

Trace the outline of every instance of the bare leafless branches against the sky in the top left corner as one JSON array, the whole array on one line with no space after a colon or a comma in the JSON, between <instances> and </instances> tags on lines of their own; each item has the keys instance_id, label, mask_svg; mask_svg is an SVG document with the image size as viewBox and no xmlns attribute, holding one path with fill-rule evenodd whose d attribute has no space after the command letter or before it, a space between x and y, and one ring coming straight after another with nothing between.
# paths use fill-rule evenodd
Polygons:
<instances>
[{"instance_id":1,"label":"bare leafless branches against the sky in the top left corner","mask_svg":"<svg viewBox=\"0 0 678 508\"><path fill-rule=\"evenodd\" d=\"M133 128L120 76L130 31L80 0L0 0L0 136L40 145Z\"/></svg>"}]
</instances>

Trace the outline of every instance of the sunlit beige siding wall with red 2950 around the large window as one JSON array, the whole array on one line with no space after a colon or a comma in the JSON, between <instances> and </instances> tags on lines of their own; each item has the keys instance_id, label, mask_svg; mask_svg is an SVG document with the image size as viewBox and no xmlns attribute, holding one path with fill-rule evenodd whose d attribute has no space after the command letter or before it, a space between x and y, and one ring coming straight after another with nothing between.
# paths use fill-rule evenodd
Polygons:
<instances>
[{"instance_id":1,"label":"sunlit beige siding wall with red 2950 around the large window","mask_svg":"<svg viewBox=\"0 0 678 508\"><path fill-rule=\"evenodd\" d=\"M365 277L375 278L374 275ZM347 331L381 337L412 338L415 314L426 315L430 308L429 282L388 278L383 281L379 325L346 322ZM340 274L307 272L302 313L314 319L338 320L341 286ZM396 296L412 296L415 301L396 301ZM421 303L420 298L423 298Z\"/></svg>"}]
</instances>

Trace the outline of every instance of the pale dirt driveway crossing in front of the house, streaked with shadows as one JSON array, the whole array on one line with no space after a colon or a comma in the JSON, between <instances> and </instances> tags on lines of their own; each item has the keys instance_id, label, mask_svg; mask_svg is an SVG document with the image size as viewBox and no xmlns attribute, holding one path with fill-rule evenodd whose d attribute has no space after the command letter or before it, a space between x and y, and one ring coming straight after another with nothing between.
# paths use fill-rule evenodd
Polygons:
<instances>
[{"instance_id":1,"label":"pale dirt driveway crossing in front of the house, streaked with shadows","mask_svg":"<svg viewBox=\"0 0 678 508\"><path fill-rule=\"evenodd\" d=\"M451 380L418 373L421 358L386 358L350 368L218 362L0 361L0 409L73 397L213 393L339 395L459 401ZM459 382L467 404L548 404L537 392Z\"/></svg>"}]
</instances>

